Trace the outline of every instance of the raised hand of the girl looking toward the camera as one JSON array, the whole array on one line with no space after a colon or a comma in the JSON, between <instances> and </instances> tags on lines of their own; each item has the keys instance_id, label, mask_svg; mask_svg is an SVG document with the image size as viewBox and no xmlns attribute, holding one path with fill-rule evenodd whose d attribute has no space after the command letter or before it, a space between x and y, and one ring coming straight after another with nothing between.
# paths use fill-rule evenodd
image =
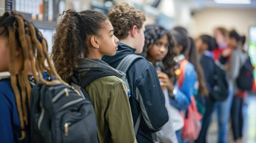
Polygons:
<instances>
[{"instance_id":1,"label":"raised hand of the girl looking toward the camera","mask_svg":"<svg viewBox=\"0 0 256 143\"><path fill-rule=\"evenodd\" d=\"M172 92L174 89L174 85L169 80L169 76L166 73L163 73L162 71L156 71L158 73L159 82L162 89L167 88L169 92Z\"/></svg>"}]
</instances>

